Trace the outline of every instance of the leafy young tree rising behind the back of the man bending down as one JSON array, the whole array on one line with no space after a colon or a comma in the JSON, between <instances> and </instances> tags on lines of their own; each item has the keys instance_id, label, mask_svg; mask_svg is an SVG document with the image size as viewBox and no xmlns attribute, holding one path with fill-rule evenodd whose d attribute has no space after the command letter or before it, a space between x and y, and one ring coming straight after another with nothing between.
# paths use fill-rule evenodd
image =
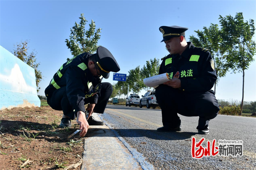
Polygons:
<instances>
[{"instance_id":1,"label":"leafy young tree rising behind the back of the man bending down","mask_svg":"<svg viewBox=\"0 0 256 170\"><path fill-rule=\"evenodd\" d=\"M87 20L84 18L83 13L79 19L81 19L80 23L77 24L75 22L75 26L70 29L70 40L66 39L65 42L73 56L84 52L95 53L99 47L97 44L100 39L101 28L96 29L95 22L92 20L91 24L89 24L90 28L85 30Z\"/></svg>"}]
</instances>

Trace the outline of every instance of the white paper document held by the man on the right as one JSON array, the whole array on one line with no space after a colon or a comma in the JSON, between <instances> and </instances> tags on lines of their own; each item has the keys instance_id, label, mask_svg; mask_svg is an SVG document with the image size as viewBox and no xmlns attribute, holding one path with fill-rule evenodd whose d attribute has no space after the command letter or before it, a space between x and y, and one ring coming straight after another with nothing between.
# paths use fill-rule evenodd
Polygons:
<instances>
[{"instance_id":1,"label":"white paper document held by the man on the right","mask_svg":"<svg viewBox=\"0 0 256 170\"><path fill-rule=\"evenodd\" d=\"M143 83L148 87L156 88L158 85L161 85L167 81L171 81L172 79L169 78L167 73L159 74L153 77L144 78Z\"/></svg>"}]
</instances>

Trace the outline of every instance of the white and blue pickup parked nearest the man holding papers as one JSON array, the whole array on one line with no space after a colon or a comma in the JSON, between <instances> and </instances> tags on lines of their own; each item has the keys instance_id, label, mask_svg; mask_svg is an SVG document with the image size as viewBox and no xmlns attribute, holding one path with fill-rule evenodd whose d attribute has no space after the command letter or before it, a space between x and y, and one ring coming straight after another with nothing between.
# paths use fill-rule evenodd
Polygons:
<instances>
[{"instance_id":1,"label":"white and blue pickup parked nearest the man holding papers","mask_svg":"<svg viewBox=\"0 0 256 170\"><path fill-rule=\"evenodd\" d=\"M148 90L146 94L140 99L140 108L146 106L148 109L152 106L153 109L159 106L156 101L155 91Z\"/></svg>"}]
</instances>

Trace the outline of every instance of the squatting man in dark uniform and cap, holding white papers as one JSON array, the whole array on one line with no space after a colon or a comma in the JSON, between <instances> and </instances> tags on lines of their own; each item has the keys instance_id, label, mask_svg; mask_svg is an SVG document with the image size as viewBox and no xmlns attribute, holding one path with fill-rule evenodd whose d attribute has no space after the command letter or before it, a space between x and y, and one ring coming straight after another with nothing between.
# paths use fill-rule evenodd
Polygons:
<instances>
[{"instance_id":1,"label":"squatting man in dark uniform and cap, holding white papers","mask_svg":"<svg viewBox=\"0 0 256 170\"><path fill-rule=\"evenodd\" d=\"M159 74L172 78L156 88L156 100L162 109L163 127L157 131L180 131L177 115L199 116L199 134L209 134L209 120L220 110L211 90L217 80L211 53L186 42L185 31L180 26L161 26L165 47L169 55L162 58Z\"/></svg>"}]
</instances>

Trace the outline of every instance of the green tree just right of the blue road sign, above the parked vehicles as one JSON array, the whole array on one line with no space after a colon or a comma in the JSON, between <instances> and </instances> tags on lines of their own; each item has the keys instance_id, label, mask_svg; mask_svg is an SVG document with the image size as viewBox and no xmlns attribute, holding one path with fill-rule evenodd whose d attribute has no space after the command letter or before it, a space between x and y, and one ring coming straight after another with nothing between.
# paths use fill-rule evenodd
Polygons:
<instances>
[{"instance_id":1,"label":"green tree just right of the blue road sign, above the parked vehicles","mask_svg":"<svg viewBox=\"0 0 256 170\"><path fill-rule=\"evenodd\" d=\"M135 69L132 69L128 72L129 76L127 76L127 82L130 86L131 91L139 93L144 87L142 74L140 72L140 66L137 66Z\"/></svg>"}]
</instances>

